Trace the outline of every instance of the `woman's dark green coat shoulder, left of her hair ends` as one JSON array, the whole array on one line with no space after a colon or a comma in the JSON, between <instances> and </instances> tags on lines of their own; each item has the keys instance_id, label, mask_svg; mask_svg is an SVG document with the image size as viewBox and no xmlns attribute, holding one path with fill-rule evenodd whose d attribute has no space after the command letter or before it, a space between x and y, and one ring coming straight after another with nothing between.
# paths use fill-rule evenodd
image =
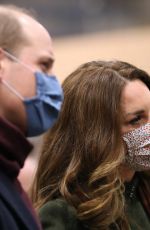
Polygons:
<instances>
[{"instance_id":1,"label":"woman's dark green coat shoulder, left of her hair ends","mask_svg":"<svg viewBox=\"0 0 150 230\"><path fill-rule=\"evenodd\" d=\"M39 210L39 216L44 230L83 229L76 210L63 199L47 202Z\"/></svg>"}]
</instances>

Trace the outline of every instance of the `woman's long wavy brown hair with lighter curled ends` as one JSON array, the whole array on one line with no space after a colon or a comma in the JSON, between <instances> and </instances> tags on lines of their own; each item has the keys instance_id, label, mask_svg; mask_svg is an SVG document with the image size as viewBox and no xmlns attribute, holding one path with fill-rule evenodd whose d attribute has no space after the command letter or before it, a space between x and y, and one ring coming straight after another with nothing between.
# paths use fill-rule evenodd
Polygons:
<instances>
[{"instance_id":1,"label":"woman's long wavy brown hair with lighter curled ends","mask_svg":"<svg viewBox=\"0 0 150 230\"><path fill-rule=\"evenodd\" d=\"M124 158L120 98L129 80L146 73L128 63L93 61L63 83L59 118L46 135L32 200L36 208L64 198L89 229L108 229L124 217L119 165Z\"/></svg>"}]
</instances>

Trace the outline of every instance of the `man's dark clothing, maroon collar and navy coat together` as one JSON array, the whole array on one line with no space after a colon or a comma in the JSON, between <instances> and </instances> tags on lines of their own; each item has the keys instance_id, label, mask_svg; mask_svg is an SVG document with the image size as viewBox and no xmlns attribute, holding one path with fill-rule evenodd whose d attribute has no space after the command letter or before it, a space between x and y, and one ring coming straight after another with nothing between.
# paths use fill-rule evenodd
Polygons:
<instances>
[{"instance_id":1,"label":"man's dark clothing, maroon collar and navy coat together","mask_svg":"<svg viewBox=\"0 0 150 230\"><path fill-rule=\"evenodd\" d=\"M41 229L18 173L32 145L14 125L0 117L0 230Z\"/></svg>"}]
</instances>

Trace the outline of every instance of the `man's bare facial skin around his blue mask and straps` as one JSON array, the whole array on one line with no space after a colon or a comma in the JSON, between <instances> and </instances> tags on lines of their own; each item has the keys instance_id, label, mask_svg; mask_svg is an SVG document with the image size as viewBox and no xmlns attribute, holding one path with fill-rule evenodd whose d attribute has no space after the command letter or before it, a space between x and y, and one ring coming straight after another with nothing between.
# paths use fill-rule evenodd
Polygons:
<instances>
[{"instance_id":1,"label":"man's bare facial skin around his blue mask and straps","mask_svg":"<svg viewBox=\"0 0 150 230\"><path fill-rule=\"evenodd\" d=\"M52 41L48 32L28 16L20 17L30 45L20 49L17 58L34 71L51 74L54 62ZM0 77L9 83L24 98L36 95L35 76L32 71L4 54L0 59ZM26 131L24 103L2 83L0 84L0 115Z\"/></svg>"}]
</instances>

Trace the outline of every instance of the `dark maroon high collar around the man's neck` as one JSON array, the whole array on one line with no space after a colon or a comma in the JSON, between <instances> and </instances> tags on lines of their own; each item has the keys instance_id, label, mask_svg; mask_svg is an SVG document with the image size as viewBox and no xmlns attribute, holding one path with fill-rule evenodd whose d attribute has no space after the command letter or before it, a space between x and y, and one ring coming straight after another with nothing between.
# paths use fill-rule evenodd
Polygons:
<instances>
[{"instance_id":1,"label":"dark maroon high collar around the man's neck","mask_svg":"<svg viewBox=\"0 0 150 230\"><path fill-rule=\"evenodd\" d=\"M0 117L0 168L7 175L18 176L32 147L15 125Z\"/></svg>"}]
</instances>

